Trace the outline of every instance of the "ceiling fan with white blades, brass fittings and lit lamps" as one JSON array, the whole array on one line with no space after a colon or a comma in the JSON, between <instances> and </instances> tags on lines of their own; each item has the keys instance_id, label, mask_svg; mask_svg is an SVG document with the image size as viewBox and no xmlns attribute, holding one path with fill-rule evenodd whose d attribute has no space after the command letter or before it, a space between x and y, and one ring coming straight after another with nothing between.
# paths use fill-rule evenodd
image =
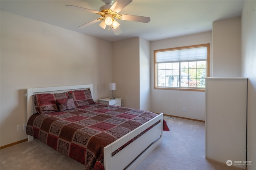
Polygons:
<instances>
[{"instance_id":1,"label":"ceiling fan with white blades, brass fittings and lit lamps","mask_svg":"<svg viewBox=\"0 0 256 170\"><path fill-rule=\"evenodd\" d=\"M113 4L114 0L102 0L102 1L105 3L105 5L100 7L100 12L95 10L90 10L87 8L82 8L79 6L74 6L74 5L66 5L66 7L74 8L77 10L83 10L86 12L91 12L101 16L100 18L97 18L88 23L80 25L78 28L88 27L89 25L92 25L98 21L101 21L100 27L105 29L106 26L108 25L108 30L110 30L111 28L115 35L119 35L120 33L122 33L119 27L120 24L116 21L116 19L127 20L127 21L137 21L137 22L143 22L143 23L148 23L150 21L149 17L118 14L118 12L120 12L124 7L130 4L132 0L116 0L114 4Z\"/></svg>"}]
</instances>

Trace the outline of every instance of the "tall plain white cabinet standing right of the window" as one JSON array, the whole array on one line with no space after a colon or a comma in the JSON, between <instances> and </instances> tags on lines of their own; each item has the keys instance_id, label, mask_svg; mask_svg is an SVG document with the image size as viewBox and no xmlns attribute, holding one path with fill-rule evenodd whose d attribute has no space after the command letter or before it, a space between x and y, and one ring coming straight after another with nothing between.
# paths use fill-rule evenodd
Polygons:
<instances>
[{"instance_id":1,"label":"tall plain white cabinet standing right of the window","mask_svg":"<svg viewBox=\"0 0 256 170\"><path fill-rule=\"evenodd\" d=\"M246 168L246 108L247 78L206 78L206 158Z\"/></svg>"}]
</instances>

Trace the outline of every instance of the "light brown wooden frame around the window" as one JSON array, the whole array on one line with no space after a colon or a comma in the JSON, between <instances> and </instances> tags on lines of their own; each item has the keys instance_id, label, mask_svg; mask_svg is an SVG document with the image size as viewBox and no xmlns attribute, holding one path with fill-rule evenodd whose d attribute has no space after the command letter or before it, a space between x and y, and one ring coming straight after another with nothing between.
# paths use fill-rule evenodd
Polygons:
<instances>
[{"instance_id":1,"label":"light brown wooden frame around the window","mask_svg":"<svg viewBox=\"0 0 256 170\"><path fill-rule=\"evenodd\" d=\"M158 77L157 77L157 71L158 70L157 70L157 63L156 63L156 53L157 52L180 50L180 49L189 49L189 48L197 48L197 47L207 47L206 77L209 77L209 75L210 75L210 43L154 50L154 89L161 89L161 90L186 90L186 91L200 91L200 92L204 92L205 88L194 88L194 87L190 87L190 88L189 87L158 87L158 84L157 84L157 82L158 82ZM182 63L182 61L179 61L179 63ZM181 68L179 68L179 70L181 70Z\"/></svg>"}]
</instances>

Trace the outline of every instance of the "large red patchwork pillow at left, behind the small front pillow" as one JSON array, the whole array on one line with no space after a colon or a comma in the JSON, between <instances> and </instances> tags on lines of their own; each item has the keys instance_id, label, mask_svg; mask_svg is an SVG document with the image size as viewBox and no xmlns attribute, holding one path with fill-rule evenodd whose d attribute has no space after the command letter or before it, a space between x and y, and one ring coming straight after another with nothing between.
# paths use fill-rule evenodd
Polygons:
<instances>
[{"instance_id":1,"label":"large red patchwork pillow at left, behind the small front pillow","mask_svg":"<svg viewBox=\"0 0 256 170\"><path fill-rule=\"evenodd\" d=\"M36 111L39 114L52 113L59 111L56 105L56 99L68 98L68 93L56 93L56 94L34 94L33 101Z\"/></svg>"}]
</instances>

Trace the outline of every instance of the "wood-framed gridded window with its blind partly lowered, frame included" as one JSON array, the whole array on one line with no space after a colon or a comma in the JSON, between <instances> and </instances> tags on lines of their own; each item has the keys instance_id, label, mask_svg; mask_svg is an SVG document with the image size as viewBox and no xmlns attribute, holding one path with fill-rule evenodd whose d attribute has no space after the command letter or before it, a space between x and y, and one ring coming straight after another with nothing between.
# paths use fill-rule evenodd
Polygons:
<instances>
[{"instance_id":1,"label":"wood-framed gridded window with its blind partly lowered, frame included","mask_svg":"<svg viewBox=\"0 0 256 170\"><path fill-rule=\"evenodd\" d=\"M154 88L205 90L210 44L154 50Z\"/></svg>"}]
</instances>

